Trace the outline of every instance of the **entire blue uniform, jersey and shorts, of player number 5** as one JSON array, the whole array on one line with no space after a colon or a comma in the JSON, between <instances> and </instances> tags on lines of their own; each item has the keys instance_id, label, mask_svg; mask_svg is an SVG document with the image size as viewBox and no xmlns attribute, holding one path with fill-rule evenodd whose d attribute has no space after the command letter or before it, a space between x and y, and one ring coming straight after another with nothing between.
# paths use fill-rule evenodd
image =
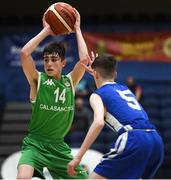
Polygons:
<instances>
[{"instance_id":1,"label":"entire blue uniform, jersey and shorts, of player number 5","mask_svg":"<svg viewBox=\"0 0 171 180\"><path fill-rule=\"evenodd\" d=\"M106 108L106 124L119 136L94 172L106 179L152 179L163 162L164 146L135 95L115 82L95 93Z\"/></svg>"}]
</instances>

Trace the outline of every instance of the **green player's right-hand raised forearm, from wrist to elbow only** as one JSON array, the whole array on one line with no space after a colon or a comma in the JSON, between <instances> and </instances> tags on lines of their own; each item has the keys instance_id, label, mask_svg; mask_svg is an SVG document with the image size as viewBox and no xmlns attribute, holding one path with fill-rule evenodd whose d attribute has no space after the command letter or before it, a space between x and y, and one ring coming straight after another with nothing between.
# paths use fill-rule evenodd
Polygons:
<instances>
[{"instance_id":1,"label":"green player's right-hand raised forearm, from wrist to elbow only","mask_svg":"<svg viewBox=\"0 0 171 180\"><path fill-rule=\"evenodd\" d=\"M80 28L76 29L76 37L77 37L77 44L78 44L78 53L79 53L79 58L86 59L88 50L87 50L87 45L85 43L85 40L83 38L82 32Z\"/></svg>"}]
</instances>

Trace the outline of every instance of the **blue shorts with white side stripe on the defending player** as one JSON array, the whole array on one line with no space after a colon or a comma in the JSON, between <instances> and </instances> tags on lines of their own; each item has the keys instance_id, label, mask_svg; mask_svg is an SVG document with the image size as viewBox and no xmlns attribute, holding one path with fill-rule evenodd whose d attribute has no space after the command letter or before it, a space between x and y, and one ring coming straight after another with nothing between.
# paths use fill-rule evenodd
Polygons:
<instances>
[{"instance_id":1,"label":"blue shorts with white side stripe on the defending player","mask_svg":"<svg viewBox=\"0 0 171 180\"><path fill-rule=\"evenodd\" d=\"M149 179L163 156L163 141L156 130L132 130L118 137L94 172L107 179Z\"/></svg>"}]
</instances>

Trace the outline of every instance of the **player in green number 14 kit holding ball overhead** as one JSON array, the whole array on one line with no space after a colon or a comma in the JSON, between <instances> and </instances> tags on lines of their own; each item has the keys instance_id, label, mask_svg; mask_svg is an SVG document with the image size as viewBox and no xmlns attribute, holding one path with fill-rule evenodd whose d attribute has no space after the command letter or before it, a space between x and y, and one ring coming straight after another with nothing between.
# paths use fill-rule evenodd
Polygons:
<instances>
[{"instance_id":1,"label":"player in green number 14 kit holding ball overhead","mask_svg":"<svg viewBox=\"0 0 171 180\"><path fill-rule=\"evenodd\" d=\"M18 163L17 179L31 179L34 171L42 178L85 179L87 173L77 167L77 176L67 174L67 163L72 160L71 149L64 137L71 127L74 114L74 89L85 70L87 46L80 29L80 15L75 10L75 33L80 61L67 75L62 75L66 64L65 48L62 43L48 44L43 51L45 73L36 70L32 52L47 36L53 35L43 17L44 28L21 50L23 71L30 85L32 116L29 133L23 140L22 155Z\"/></svg>"}]
</instances>

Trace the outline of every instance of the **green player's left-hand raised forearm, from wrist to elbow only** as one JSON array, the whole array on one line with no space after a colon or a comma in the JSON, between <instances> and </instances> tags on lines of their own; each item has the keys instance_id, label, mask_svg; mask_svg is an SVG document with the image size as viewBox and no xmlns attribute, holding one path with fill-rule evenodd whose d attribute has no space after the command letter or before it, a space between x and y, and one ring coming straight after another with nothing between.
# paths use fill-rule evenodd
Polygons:
<instances>
[{"instance_id":1,"label":"green player's left-hand raised forearm, from wrist to elbow only","mask_svg":"<svg viewBox=\"0 0 171 180\"><path fill-rule=\"evenodd\" d=\"M40 42L43 41L48 35L49 31L46 28L42 29L39 34L37 34L21 49L21 54L24 54L25 56L31 55Z\"/></svg>"}]
</instances>

